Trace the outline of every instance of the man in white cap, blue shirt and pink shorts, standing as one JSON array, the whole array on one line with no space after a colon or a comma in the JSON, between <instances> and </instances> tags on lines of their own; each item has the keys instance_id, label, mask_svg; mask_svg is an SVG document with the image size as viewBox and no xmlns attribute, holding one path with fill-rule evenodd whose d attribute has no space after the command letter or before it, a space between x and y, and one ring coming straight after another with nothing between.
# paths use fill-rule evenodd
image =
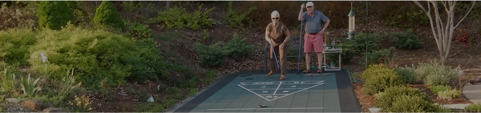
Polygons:
<instances>
[{"instance_id":1,"label":"man in white cap, blue shirt and pink shorts, standing","mask_svg":"<svg viewBox=\"0 0 481 113\"><path fill-rule=\"evenodd\" d=\"M309 54L312 53L312 49L314 48L314 52L316 52L317 55L317 63L319 65L317 73L321 73L322 69L320 66L322 65L322 51L324 51L324 39L322 36L330 21L329 18L326 17L326 15L324 15L322 12L314 10L313 2L307 2L305 4L305 8L307 11L303 13L304 4L302 4L301 11L299 12L299 21L305 22L304 53L306 54L306 69L303 72L311 72L309 67L311 56ZM324 22L324 27L321 24L322 22Z\"/></svg>"}]
</instances>

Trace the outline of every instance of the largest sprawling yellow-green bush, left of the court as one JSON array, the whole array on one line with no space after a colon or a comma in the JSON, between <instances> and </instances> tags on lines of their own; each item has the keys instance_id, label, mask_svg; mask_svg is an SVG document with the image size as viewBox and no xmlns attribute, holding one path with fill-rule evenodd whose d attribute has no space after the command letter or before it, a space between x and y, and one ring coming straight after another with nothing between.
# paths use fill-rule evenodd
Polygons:
<instances>
[{"instance_id":1,"label":"largest sprawling yellow-green bush, left of the court","mask_svg":"<svg viewBox=\"0 0 481 113\"><path fill-rule=\"evenodd\" d=\"M43 30L38 43L31 47L29 62L37 71L51 72L53 78L63 78L61 71L75 68L84 83L91 85L107 78L107 84L117 85L126 79L157 79L165 75L165 63L157 55L153 39L130 40L103 30L86 30L68 26L61 31ZM44 52L48 63L38 58Z\"/></svg>"}]
</instances>

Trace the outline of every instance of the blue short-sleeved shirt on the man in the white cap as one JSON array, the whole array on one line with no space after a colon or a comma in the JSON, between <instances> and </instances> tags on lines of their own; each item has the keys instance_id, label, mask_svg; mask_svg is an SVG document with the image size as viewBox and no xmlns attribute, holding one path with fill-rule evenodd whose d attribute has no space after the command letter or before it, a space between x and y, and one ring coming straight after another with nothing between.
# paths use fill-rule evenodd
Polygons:
<instances>
[{"instance_id":1,"label":"blue short-sleeved shirt on the man in the white cap","mask_svg":"<svg viewBox=\"0 0 481 113\"><path fill-rule=\"evenodd\" d=\"M305 32L316 34L322 30L322 22L326 23L329 18L320 11L314 11L314 16L309 16L307 11L303 13L303 21L305 22Z\"/></svg>"}]
</instances>

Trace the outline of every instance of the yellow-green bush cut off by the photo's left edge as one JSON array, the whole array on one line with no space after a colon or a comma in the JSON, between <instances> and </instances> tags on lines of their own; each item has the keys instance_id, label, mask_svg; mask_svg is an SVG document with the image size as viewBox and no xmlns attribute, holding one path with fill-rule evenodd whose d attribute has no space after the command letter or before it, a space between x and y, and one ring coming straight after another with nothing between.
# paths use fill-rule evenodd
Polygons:
<instances>
[{"instance_id":1,"label":"yellow-green bush cut off by the photo's left edge","mask_svg":"<svg viewBox=\"0 0 481 113\"><path fill-rule=\"evenodd\" d=\"M31 29L13 28L0 31L0 61L18 63L19 66L28 65L28 49L37 42L35 34Z\"/></svg>"}]
</instances>

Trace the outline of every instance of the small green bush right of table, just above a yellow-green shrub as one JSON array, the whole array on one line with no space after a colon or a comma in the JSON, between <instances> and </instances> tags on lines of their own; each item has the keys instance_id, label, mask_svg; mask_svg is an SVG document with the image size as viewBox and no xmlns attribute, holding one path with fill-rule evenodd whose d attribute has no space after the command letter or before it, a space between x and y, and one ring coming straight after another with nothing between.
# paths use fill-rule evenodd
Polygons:
<instances>
[{"instance_id":1,"label":"small green bush right of table, just above a yellow-green shrub","mask_svg":"<svg viewBox=\"0 0 481 113\"><path fill-rule=\"evenodd\" d=\"M391 63L393 52L396 50L394 47L388 49L381 49L378 51L371 51L367 53L367 65L373 64L389 64ZM359 62L360 64L365 64L366 62Z\"/></svg>"}]
</instances>

